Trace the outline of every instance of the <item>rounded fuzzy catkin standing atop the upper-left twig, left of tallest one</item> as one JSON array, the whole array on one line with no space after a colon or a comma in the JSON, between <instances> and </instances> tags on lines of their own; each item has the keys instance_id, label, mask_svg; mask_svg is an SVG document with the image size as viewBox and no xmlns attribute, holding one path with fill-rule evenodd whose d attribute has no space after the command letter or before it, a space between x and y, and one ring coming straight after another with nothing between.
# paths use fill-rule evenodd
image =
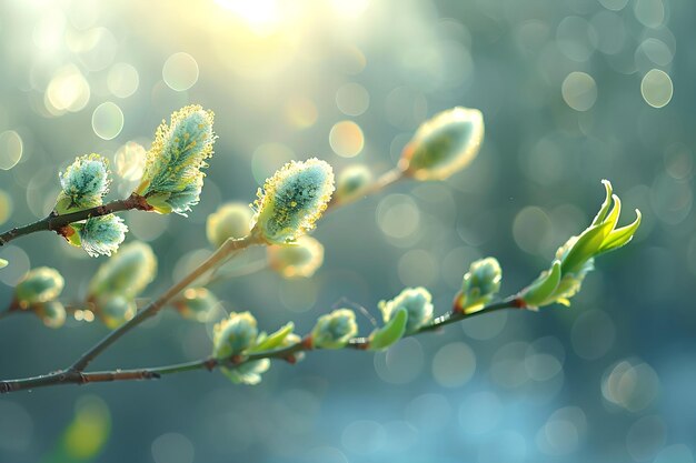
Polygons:
<instances>
[{"instance_id":1,"label":"rounded fuzzy catkin standing atop the upper-left twig, left of tallest one","mask_svg":"<svg viewBox=\"0 0 696 463\"><path fill-rule=\"evenodd\" d=\"M61 192L56 202L56 212L67 212L101 205L109 190L109 161L99 154L76 158L60 174Z\"/></svg>"}]
</instances>

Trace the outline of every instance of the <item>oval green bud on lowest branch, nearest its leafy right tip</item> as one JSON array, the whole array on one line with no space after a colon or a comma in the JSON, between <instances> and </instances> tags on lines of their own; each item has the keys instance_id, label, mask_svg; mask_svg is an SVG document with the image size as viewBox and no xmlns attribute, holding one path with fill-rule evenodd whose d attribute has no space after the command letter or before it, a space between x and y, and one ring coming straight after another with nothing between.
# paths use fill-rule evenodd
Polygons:
<instances>
[{"instance_id":1,"label":"oval green bud on lowest branch, nearest its leafy right tip","mask_svg":"<svg viewBox=\"0 0 696 463\"><path fill-rule=\"evenodd\" d=\"M464 274L456 306L464 313L481 310L500 290L503 270L495 258L475 261Z\"/></svg>"}]
</instances>

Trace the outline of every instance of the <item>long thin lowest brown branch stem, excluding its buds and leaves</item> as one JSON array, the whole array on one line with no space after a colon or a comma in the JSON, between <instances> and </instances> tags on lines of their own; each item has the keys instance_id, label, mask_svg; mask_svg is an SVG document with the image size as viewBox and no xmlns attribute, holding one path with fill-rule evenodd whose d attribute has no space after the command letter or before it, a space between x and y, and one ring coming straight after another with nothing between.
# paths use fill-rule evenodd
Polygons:
<instances>
[{"instance_id":1,"label":"long thin lowest brown branch stem, excluding its buds and leaves","mask_svg":"<svg viewBox=\"0 0 696 463\"><path fill-rule=\"evenodd\" d=\"M485 313L490 313L504 309L520 309L523 305L517 298L508 298L504 301L493 303L484 306L478 312L473 313L464 313L455 308L451 312L446 315L439 316L432 321L432 323L422 326L420 330L415 333L408 334L407 336L412 336L421 333L429 333L436 330L441 329L451 323L460 322L467 319L471 319L474 316L483 315ZM345 349L354 349L354 350L367 350L369 346L369 341L366 338L355 338L352 339ZM213 359L207 358L192 362L185 363L175 363L171 365L163 366L153 366L146 369L136 369L136 370L113 370L113 371L101 371L101 372L82 372L76 369L68 369L66 371L58 371L42 376L33 376L27 378L22 380L9 380L9 381L0 381L0 393L8 392L17 392L22 390L30 390L36 387L46 387L53 386L60 384L89 384L89 383L101 383L101 382L112 382L112 381L140 381L140 380L157 380L161 376L169 374L178 374L185 373L189 371L198 371L198 370L207 370L212 371L217 368L237 368L248 362L253 362L262 359L276 359L276 360L286 360L294 362L294 355L299 352L311 351L311 342L307 340L298 342L296 344L289 345L282 349L275 349L262 352L253 352L247 355L235 355L231 359Z\"/></svg>"}]
</instances>

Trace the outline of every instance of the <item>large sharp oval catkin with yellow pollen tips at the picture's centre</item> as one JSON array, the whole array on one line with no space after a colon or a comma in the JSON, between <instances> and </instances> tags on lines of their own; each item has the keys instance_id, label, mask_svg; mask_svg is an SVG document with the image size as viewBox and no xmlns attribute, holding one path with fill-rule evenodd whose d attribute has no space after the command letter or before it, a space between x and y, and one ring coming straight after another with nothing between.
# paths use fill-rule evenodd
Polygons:
<instances>
[{"instance_id":1,"label":"large sharp oval catkin with yellow pollen tips at the picture's centre","mask_svg":"<svg viewBox=\"0 0 696 463\"><path fill-rule=\"evenodd\" d=\"M253 203L252 233L285 244L315 228L334 192L334 171L316 158L291 161L266 180Z\"/></svg>"}]
</instances>

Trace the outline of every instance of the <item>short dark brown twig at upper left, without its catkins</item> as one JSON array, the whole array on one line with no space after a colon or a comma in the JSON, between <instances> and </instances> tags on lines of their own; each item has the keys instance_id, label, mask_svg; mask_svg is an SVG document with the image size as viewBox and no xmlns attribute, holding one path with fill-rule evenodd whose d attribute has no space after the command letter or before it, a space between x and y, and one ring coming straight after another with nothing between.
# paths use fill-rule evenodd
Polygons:
<instances>
[{"instance_id":1,"label":"short dark brown twig at upper left, without its catkins","mask_svg":"<svg viewBox=\"0 0 696 463\"><path fill-rule=\"evenodd\" d=\"M68 214L57 214L56 212L51 212L46 218L39 221L36 221L28 225L8 230L4 233L0 234L0 246L6 245L17 238L26 236L31 233L40 231L54 231L57 233L60 233L60 231L70 223L79 222L93 217L108 215L115 212L129 211L131 209L148 211L152 208L148 205L143 197L132 193L125 200L111 201L107 204L97 205L95 208L84 209L82 211L70 212Z\"/></svg>"}]
</instances>

